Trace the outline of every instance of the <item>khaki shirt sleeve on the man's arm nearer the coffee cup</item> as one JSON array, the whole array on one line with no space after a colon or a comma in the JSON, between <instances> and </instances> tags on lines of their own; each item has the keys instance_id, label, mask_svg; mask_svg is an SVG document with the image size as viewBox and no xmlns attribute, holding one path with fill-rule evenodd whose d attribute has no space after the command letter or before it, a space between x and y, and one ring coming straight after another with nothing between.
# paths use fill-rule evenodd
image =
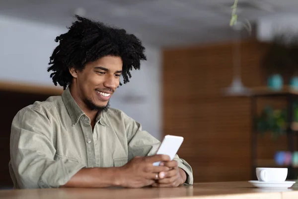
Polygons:
<instances>
[{"instance_id":1,"label":"khaki shirt sleeve on the man's arm nearer the coffee cup","mask_svg":"<svg viewBox=\"0 0 298 199\"><path fill-rule=\"evenodd\" d=\"M150 156L154 155L160 145L160 141L154 138L147 131L142 130L142 125L124 115L126 121L126 130L128 136L128 153L129 160L135 156ZM193 184L193 171L191 166L176 154L174 160L178 162L178 167L186 173L185 185Z\"/></svg>"}]
</instances>

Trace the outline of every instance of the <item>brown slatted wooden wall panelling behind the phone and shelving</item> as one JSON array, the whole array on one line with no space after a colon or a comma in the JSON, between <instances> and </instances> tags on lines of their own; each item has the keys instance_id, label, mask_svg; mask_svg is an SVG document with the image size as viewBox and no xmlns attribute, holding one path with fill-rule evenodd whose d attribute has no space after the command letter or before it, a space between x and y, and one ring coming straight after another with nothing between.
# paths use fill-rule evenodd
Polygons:
<instances>
[{"instance_id":1,"label":"brown slatted wooden wall panelling behind the phone and shelving","mask_svg":"<svg viewBox=\"0 0 298 199\"><path fill-rule=\"evenodd\" d=\"M260 67L266 48L255 40L241 42L245 86L266 84ZM231 80L231 43L163 51L163 133L184 136L178 155L192 165L195 182L251 180L251 103L223 95ZM266 103L261 100L260 107ZM261 138L258 156L272 158L265 143L274 145ZM279 148L285 146L282 140Z\"/></svg>"}]
</instances>

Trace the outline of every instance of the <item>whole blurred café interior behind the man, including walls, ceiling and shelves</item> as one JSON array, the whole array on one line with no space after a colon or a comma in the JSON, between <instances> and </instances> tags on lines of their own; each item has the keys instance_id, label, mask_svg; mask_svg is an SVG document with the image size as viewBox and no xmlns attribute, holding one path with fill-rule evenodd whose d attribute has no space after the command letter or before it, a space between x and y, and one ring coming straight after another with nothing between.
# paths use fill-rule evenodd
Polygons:
<instances>
[{"instance_id":1,"label":"whole blurred caf\u00e9 interior behind the man, including walls, ceiling and shelves","mask_svg":"<svg viewBox=\"0 0 298 199\"><path fill-rule=\"evenodd\" d=\"M154 137L180 135L195 182L255 180L298 165L298 0L0 0L0 187L12 186L18 110L61 95L47 72L74 15L138 36L148 61L111 99ZM249 27L251 26L251 29Z\"/></svg>"}]
</instances>

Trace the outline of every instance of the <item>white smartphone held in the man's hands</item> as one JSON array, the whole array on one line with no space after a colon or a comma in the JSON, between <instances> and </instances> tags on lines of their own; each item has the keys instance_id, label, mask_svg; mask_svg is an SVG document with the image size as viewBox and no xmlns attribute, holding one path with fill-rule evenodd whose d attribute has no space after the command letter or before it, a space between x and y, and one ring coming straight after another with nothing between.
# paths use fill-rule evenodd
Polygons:
<instances>
[{"instance_id":1,"label":"white smartphone held in the man's hands","mask_svg":"<svg viewBox=\"0 0 298 199\"><path fill-rule=\"evenodd\" d=\"M174 135L164 136L156 154L168 155L173 160L184 138ZM154 162L153 166L158 166L160 162Z\"/></svg>"}]
</instances>

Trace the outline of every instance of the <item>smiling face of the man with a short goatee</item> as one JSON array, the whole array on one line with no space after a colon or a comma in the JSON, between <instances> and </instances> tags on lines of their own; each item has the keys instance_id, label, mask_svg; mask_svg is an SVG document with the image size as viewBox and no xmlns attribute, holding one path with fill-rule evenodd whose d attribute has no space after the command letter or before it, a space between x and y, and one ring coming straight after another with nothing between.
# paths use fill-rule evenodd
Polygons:
<instances>
[{"instance_id":1,"label":"smiling face of the man with a short goatee","mask_svg":"<svg viewBox=\"0 0 298 199\"><path fill-rule=\"evenodd\" d=\"M82 71L71 69L79 99L90 110L103 110L120 84L122 59L105 56L85 65Z\"/></svg>"}]
</instances>

